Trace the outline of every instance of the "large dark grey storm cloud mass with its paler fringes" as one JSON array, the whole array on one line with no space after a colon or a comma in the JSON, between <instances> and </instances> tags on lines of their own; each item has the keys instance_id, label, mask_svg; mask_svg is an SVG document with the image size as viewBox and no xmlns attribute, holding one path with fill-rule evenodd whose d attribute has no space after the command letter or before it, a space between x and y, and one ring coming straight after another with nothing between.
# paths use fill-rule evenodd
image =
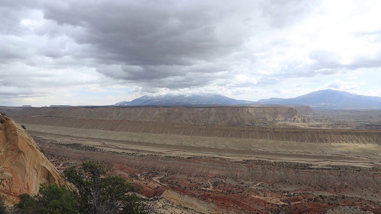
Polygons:
<instances>
[{"instance_id":1,"label":"large dark grey storm cloud mass with its paler fringes","mask_svg":"<svg viewBox=\"0 0 381 214\"><path fill-rule=\"evenodd\" d=\"M43 14L66 28L61 34L86 46L70 56L96 59L101 64L95 66L97 72L129 83L179 88L211 83L200 73L231 71L236 63L231 54L245 51L251 37L267 25L292 24L311 8L309 1L75 0L45 2ZM60 35L53 28L58 30L43 32Z\"/></svg>"}]
</instances>

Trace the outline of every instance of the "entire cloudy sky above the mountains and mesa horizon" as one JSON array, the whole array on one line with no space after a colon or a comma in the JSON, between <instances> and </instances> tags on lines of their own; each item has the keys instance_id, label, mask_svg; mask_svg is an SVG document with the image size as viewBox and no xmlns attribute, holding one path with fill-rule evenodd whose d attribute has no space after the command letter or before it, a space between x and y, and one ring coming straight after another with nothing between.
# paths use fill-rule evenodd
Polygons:
<instances>
[{"instance_id":1,"label":"entire cloudy sky above the mountains and mesa horizon","mask_svg":"<svg viewBox=\"0 0 381 214\"><path fill-rule=\"evenodd\" d=\"M381 1L2 0L0 106L381 96Z\"/></svg>"}]
</instances>

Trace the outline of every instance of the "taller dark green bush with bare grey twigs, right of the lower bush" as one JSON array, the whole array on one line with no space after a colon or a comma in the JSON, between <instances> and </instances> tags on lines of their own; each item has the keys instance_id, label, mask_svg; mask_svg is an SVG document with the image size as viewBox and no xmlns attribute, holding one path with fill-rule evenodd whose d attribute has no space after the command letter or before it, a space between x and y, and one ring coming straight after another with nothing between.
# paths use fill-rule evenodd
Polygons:
<instances>
[{"instance_id":1,"label":"taller dark green bush with bare grey twigs, right of the lower bush","mask_svg":"<svg viewBox=\"0 0 381 214\"><path fill-rule=\"evenodd\" d=\"M107 176L106 166L95 161L70 166L64 177L74 187L80 210L89 214L144 214L146 206L135 194L139 188L119 176Z\"/></svg>"}]
</instances>

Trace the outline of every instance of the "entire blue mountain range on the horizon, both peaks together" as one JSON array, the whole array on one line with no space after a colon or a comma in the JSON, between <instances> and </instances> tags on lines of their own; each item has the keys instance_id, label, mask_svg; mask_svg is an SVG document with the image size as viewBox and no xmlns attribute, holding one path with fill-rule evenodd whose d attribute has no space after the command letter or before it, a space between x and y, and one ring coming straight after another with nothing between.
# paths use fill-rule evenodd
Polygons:
<instances>
[{"instance_id":1,"label":"entire blue mountain range on the horizon, both peaks together","mask_svg":"<svg viewBox=\"0 0 381 214\"><path fill-rule=\"evenodd\" d=\"M327 109L381 109L381 97L326 89L294 98L272 97L257 102L232 99L219 94L163 94L146 95L130 102L118 102L115 105L310 105Z\"/></svg>"}]
</instances>

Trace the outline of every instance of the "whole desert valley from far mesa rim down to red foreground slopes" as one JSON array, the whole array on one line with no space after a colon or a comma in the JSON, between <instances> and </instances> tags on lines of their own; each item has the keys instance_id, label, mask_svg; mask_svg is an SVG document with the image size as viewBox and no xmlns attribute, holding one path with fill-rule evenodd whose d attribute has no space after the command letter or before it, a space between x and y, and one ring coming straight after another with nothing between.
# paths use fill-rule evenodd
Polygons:
<instances>
[{"instance_id":1,"label":"whole desert valley from far mesa rim down to red foreground slopes","mask_svg":"<svg viewBox=\"0 0 381 214\"><path fill-rule=\"evenodd\" d=\"M24 125L58 170L94 160L143 187L152 213L381 213L380 110L158 105L0 112Z\"/></svg>"}]
</instances>

